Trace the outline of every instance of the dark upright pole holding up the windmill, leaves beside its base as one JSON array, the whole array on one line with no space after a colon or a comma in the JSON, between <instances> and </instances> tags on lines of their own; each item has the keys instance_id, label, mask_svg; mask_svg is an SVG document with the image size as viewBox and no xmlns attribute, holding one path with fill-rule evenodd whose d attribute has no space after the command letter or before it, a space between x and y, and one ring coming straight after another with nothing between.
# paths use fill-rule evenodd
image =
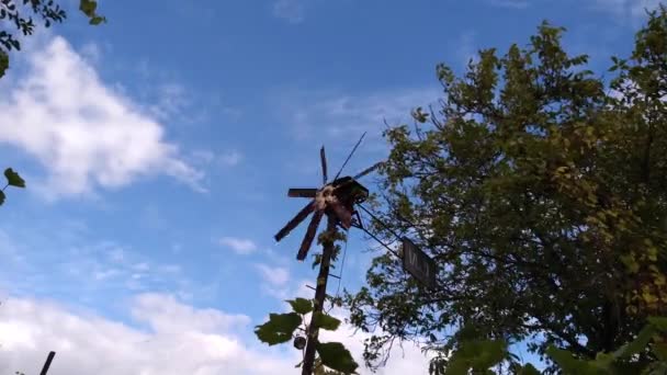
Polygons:
<instances>
[{"instance_id":1,"label":"dark upright pole holding up the windmill, leaves beside its base","mask_svg":"<svg viewBox=\"0 0 667 375\"><path fill-rule=\"evenodd\" d=\"M329 236L334 236L336 231L336 217L334 214L329 214L327 215L327 234ZM317 312L321 312L325 306L325 298L327 297L327 281L329 280L329 266L332 254L334 239L331 239L331 241L324 241L321 262L319 263L319 273L317 275L317 285L315 287L315 306L313 308L313 316L310 317L310 325L308 326L308 341L306 343L306 352L304 354L302 375L313 374L313 367L315 364L315 345L317 344L317 336L319 333L319 329L314 325L315 315Z\"/></svg>"}]
</instances>

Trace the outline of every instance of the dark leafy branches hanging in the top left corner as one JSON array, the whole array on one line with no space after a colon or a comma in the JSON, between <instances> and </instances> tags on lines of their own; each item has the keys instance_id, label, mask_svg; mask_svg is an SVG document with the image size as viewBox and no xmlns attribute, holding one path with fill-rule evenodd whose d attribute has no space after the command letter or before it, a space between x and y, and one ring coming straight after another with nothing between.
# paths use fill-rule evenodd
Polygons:
<instances>
[{"instance_id":1,"label":"dark leafy branches hanging in the top left corner","mask_svg":"<svg viewBox=\"0 0 667 375\"><path fill-rule=\"evenodd\" d=\"M89 23L98 25L106 19L97 13L95 0L80 0L79 10L89 19ZM26 15L26 13L29 15ZM35 30L33 16L42 19L45 27L54 22L63 22L67 18L65 10L54 0L0 0L0 78L9 68L9 53L20 50L21 43L14 37L13 30L23 35L32 35Z\"/></svg>"}]
</instances>

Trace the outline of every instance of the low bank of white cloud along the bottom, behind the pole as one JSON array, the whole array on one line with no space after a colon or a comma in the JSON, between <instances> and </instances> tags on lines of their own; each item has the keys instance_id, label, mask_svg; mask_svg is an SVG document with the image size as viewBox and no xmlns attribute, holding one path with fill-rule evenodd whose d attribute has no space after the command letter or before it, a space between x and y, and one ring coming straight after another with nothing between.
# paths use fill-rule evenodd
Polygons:
<instances>
[{"instance_id":1,"label":"low bank of white cloud along the bottom, behind the pole","mask_svg":"<svg viewBox=\"0 0 667 375\"><path fill-rule=\"evenodd\" d=\"M242 315L196 309L160 294L139 295L129 307L146 329L43 300L5 300L0 306L0 373L35 373L49 351L56 352L49 375L292 374L301 360L289 344L257 341ZM361 364L364 337L352 333L342 326L321 337L343 342ZM419 350L406 345L404 353L395 348L376 374L421 374L427 368ZM371 374L363 367L359 372Z\"/></svg>"}]
</instances>

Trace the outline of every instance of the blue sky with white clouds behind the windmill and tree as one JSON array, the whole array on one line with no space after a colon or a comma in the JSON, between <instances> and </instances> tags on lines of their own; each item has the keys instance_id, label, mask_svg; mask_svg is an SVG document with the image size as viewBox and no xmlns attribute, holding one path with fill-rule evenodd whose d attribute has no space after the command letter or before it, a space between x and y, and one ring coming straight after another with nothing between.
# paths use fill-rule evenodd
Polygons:
<instances>
[{"instance_id":1,"label":"blue sky with white clouds behind the windmill and tree","mask_svg":"<svg viewBox=\"0 0 667 375\"><path fill-rule=\"evenodd\" d=\"M304 228L272 237L304 204L286 189L320 181L323 144L330 171L363 132L346 172L381 160L383 121L441 95L437 64L461 72L544 19L603 73L656 3L102 0L99 27L69 7L0 82L0 160L29 186L1 207L0 370L49 350L56 375L290 368L297 354L258 344L252 326L309 296ZM350 234L343 286L363 283L366 248ZM359 355L362 338L340 337ZM384 373L426 371L406 352Z\"/></svg>"}]
</instances>

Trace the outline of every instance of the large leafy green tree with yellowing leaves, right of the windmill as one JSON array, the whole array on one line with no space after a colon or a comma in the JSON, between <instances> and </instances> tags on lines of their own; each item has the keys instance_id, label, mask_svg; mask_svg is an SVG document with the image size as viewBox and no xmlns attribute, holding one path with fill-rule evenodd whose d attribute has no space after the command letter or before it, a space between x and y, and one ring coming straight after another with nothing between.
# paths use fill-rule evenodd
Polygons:
<instances>
[{"instance_id":1,"label":"large leafy green tree with yellowing leaves, right of the windmill","mask_svg":"<svg viewBox=\"0 0 667 375\"><path fill-rule=\"evenodd\" d=\"M440 272L429 291L399 259L374 259L347 296L354 326L383 330L368 365L395 340L446 363L470 325L590 360L667 312L667 9L612 58L609 84L564 50L564 31L544 22L525 48L481 50L463 77L438 66L438 111L385 133L376 203L391 230L372 230L410 237Z\"/></svg>"}]
</instances>

